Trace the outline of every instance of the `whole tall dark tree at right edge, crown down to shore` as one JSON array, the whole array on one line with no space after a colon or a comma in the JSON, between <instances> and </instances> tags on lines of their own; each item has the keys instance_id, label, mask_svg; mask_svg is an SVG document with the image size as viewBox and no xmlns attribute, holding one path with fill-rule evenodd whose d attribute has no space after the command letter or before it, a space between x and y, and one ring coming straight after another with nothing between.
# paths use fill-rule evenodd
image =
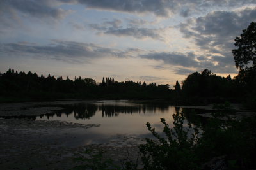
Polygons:
<instances>
[{"instance_id":1,"label":"whole tall dark tree at right edge, crown down to shore","mask_svg":"<svg viewBox=\"0 0 256 170\"><path fill-rule=\"evenodd\" d=\"M235 39L237 49L232 50L239 74L236 81L239 82L243 92L244 106L256 109L256 22L251 22L247 29Z\"/></svg>"}]
</instances>

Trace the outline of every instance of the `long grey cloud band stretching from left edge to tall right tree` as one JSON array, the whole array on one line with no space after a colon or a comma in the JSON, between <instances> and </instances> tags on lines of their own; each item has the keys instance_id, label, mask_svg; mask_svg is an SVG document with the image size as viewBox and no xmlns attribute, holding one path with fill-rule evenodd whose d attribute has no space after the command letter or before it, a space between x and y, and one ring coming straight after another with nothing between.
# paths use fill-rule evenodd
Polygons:
<instances>
[{"instance_id":1,"label":"long grey cloud band stretching from left edge to tall right tree","mask_svg":"<svg viewBox=\"0 0 256 170\"><path fill-rule=\"evenodd\" d=\"M222 56L198 56L195 53L177 52L149 52L139 48L116 50L104 48L92 43L77 43L73 41L52 40L48 45L37 45L23 41L20 43L1 43L0 57L33 57L45 60L61 60L69 63L90 62L93 59L104 57L140 57L142 59L158 60L163 66L154 66L155 69L167 69L176 74L187 74L194 70L211 69L214 73L234 73L234 66L228 66L228 58ZM220 64L215 65L216 62ZM227 67L228 66L228 67ZM145 81L163 80L144 76Z\"/></svg>"}]
</instances>

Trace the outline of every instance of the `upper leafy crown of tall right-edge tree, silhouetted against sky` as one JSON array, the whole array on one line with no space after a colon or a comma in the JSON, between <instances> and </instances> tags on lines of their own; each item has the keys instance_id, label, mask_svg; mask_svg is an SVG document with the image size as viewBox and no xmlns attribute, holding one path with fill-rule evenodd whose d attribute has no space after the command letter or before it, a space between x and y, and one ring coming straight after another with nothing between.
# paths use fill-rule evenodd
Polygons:
<instances>
[{"instance_id":1,"label":"upper leafy crown of tall right-edge tree, silhouetted against sky","mask_svg":"<svg viewBox=\"0 0 256 170\"><path fill-rule=\"evenodd\" d=\"M243 33L236 37L235 46L238 48L232 50L236 67L240 70L244 67L248 67L248 64L252 62L252 66L256 66L256 22L251 22L247 29L243 30Z\"/></svg>"}]
</instances>

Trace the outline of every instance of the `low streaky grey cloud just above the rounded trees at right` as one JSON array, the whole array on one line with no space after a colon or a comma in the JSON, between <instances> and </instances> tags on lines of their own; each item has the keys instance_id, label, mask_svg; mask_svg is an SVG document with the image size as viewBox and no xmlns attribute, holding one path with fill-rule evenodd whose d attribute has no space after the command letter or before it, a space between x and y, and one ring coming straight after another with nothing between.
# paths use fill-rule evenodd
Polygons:
<instances>
[{"instance_id":1,"label":"low streaky grey cloud just above the rounded trees at right","mask_svg":"<svg viewBox=\"0 0 256 170\"><path fill-rule=\"evenodd\" d=\"M151 52L145 55L139 55L143 59L152 59L163 61L164 67L154 66L156 69L167 69L166 65L170 65L170 70L177 74L187 74L193 70L211 69L214 73L236 73L236 67L232 59L222 56L197 56L194 53L167 53L167 52ZM174 69L172 66L181 66L185 68Z\"/></svg>"}]
</instances>

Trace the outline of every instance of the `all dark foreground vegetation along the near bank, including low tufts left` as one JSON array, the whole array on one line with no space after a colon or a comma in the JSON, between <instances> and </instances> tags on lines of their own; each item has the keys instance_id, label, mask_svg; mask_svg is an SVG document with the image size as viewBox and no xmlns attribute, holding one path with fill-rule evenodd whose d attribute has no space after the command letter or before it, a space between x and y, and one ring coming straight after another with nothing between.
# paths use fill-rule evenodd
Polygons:
<instances>
[{"instance_id":1,"label":"all dark foreground vegetation along the near bank, including low tufts left","mask_svg":"<svg viewBox=\"0 0 256 170\"><path fill-rule=\"evenodd\" d=\"M150 123L148 131L155 139L146 139L137 154L128 155L126 162L116 164L103 150L86 150L82 162L75 169L255 169L256 167L256 117L236 119L227 116L219 107L204 124L194 113L173 114L173 127L164 118L163 132L156 132ZM225 108L227 111L227 108ZM224 112L223 112L224 111ZM192 117L186 124L185 117ZM221 120L225 117L225 120Z\"/></svg>"}]
</instances>

